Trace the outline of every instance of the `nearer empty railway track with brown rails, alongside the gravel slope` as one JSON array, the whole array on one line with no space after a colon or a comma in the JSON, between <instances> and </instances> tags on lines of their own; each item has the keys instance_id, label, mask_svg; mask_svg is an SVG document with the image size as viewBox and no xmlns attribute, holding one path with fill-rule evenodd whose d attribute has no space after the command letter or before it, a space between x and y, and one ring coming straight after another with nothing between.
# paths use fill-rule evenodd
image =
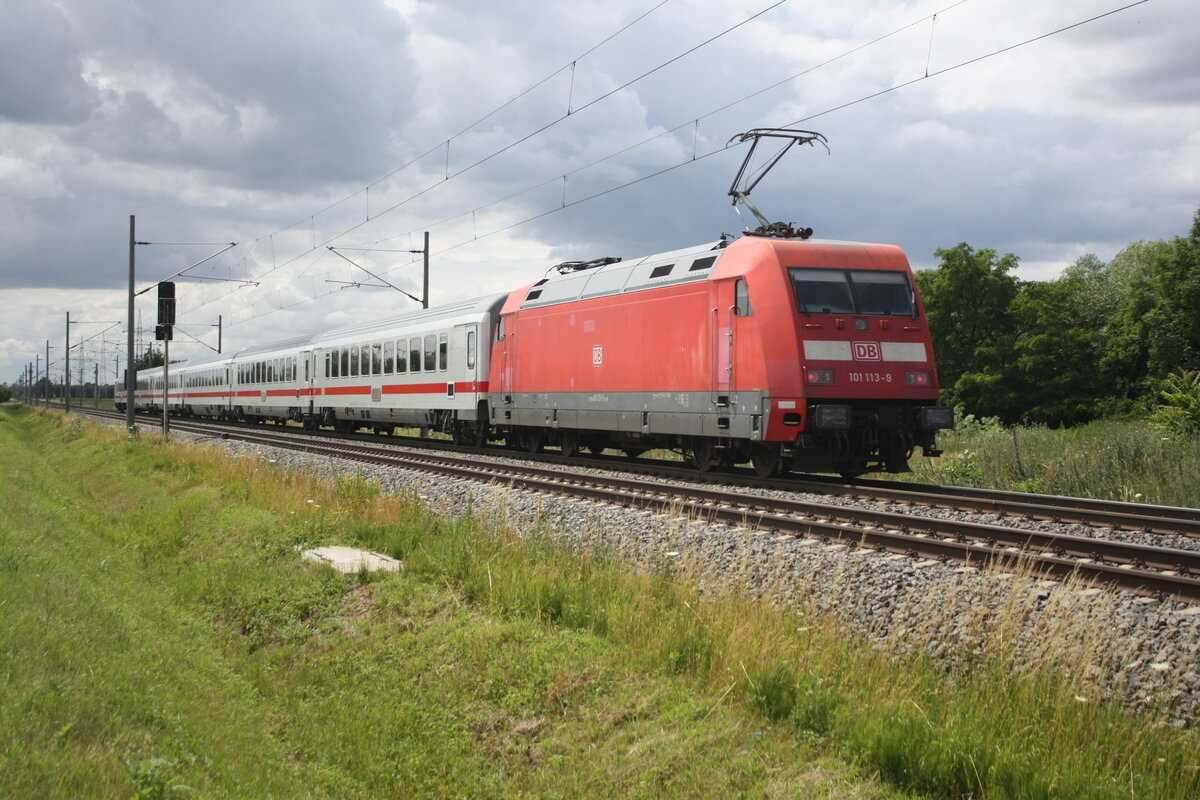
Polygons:
<instances>
[{"instance_id":1,"label":"nearer empty railway track with brown rails, alongside the gravel slope","mask_svg":"<svg viewBox=\"0 0 1200 800\"><path fill-rule=\"evenodd\" d=\"M206 425L182 423L175 427L211 432L211 426ZM281 437L281 432L276 431L236 429L221 435L330 458L419 469L449 477L508 483L534 492L584 497L655 512L684 513L724 524L767 528L908 557L953 560L974 566L1026 569L1036 577L1055 579L1074 575L1085 582L1103 582L1136 594L1200 603L1200 579L1193 577L1200 575L1200 554L1192 551L800 500L746 497L721 489L648 485L626 477L572 476L548 467L480 463L454 453L397 452L394 447L376 443L313 438L300 432L282 433L284 435ZM918 530L913 531L913 528ZM938 535L930 535L931 533ZM1067 554L1079 555L1085 560L1064 558ZM1098 557L1122 564L1092 560ZM1146 569L1150 566L1165 571Z\"/></svg>"}]
</instances>

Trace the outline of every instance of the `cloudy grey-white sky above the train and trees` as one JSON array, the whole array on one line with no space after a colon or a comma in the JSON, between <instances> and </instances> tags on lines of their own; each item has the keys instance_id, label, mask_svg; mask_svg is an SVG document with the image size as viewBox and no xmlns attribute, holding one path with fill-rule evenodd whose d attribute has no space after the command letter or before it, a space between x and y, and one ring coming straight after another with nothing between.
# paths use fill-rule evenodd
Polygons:
<instances>
[{"instance_id":1,"label":"cloudy grey-white sky above the train and trees","mask_svg":"<svg viewBox=\"0 0 1200 800\"><path fill-rule=\"evenodd\" d=\"M916 269L966 241L1044 279L1183 235L1200 4L1123 5L0 0L0 381L61 362L66 312L112 380L131 215L139 290L221 249L170 242L238 242L179 279L196 357L218 317L228 351L418 307L353 284L419 295L425 230L434 305L739 231L726 145L757 127L829 140L767 216Z\"/></svg>"}]
</instances>

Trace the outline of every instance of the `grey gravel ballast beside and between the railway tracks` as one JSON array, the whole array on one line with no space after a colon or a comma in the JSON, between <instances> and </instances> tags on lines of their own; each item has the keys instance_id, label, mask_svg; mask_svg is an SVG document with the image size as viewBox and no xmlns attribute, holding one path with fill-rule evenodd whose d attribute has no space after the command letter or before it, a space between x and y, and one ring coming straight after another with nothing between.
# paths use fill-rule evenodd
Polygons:
<instances>
[{"instance_id":1,"label":"grey gravel ballast beside and between the railway tracks","mask_svg":"<svg viewBox=\"0 0 1200 800\"><path fill-rule=\"evenodd\" d=\"M178 432L173 435L192 438ZM923 649L948 669L970 669L997 648L1018 643L1014 668L1042 663L1070 670L1076 676L1076 699L1081 703L1116 697L1133 708L1162 715L1175 727L1189 727L1200 720L1200 606L199 438L236 457L269 459L286 469L322 476L360 474L377 480L385 492L415 493L442 513L470 509L509 522L517 530L536 525L572 546L616 552L638 566L658 569L670 564L691 571L706 589L744 589L782 606L835 614L881 648ZM823 495L799 497L914 517L953 516L1014 528L1115 537L1114 531L1084 525ZM1128 531L1122 536L1128 541L1145 537ZM1180 539L1184 541L1178 545L1166 545L1162 537L1151 541L1168 547L1198 547L1195 540Z\"/></svg>"}]
</instances>

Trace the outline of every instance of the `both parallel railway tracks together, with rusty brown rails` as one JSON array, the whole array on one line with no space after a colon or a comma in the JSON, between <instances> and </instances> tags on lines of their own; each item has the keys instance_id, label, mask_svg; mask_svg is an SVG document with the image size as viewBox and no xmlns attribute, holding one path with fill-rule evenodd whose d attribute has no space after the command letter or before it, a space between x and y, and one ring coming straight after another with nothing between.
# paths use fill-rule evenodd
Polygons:
<instances>
[{"instance_id":1,"label":"both parallel railway tracks together, with rusty brown rails","mask_svg":"<svg viewBox=\"0 0 1200 800\"><path fill-rule=\"evenodd\" d=\"M426 446L398 449L398 441L367 437L313 435L299 428L244 426L173 420L175 431L220 435L257 445L283 447L329 458L415 469L469 481L511 485L612 503L652 512L668 512L714 523L742 525L838 542L850 547L898 553L974 566L998 565L1062 579L1114 585L1140 595L1200 603L1200 551L1140 542L1027 530L859 506L833 505L796 497L798 489L858 500L899 503L935 509L971 510L1003 517L1068 522L1142 533L1200 535L1200 511L1136 504L1105 504L1079 498L992 493L962 487L925 487L890 481L845 483L812 476L794 480L742 475L698 476L692 470L661 463L635 464L620 458L566 461L560 456L493 462L511 451L461 451ZM406 445L414 444L403 440ZM428 440L415 444L430 445ZM487 456L490 459L481 459ZM619 462L619 464L614 464ZM586 471L619 465L637 475ZM648 481L647 477L656 481ZM697 483L698 477L726 485ZM685 483L680 483L685 481ZM784 489L781 495L739 492L727 483ZM1025 498L1028 498L1027 500ZM1146 513L1148 512L1148 513Z\"/></svg>"}]
</instances>

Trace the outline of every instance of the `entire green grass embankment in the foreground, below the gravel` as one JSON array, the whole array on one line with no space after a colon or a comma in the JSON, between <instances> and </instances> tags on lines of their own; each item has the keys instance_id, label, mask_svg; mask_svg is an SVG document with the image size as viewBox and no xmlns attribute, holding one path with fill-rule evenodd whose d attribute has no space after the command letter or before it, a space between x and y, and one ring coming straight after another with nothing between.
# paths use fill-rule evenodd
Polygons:
<instances>
[{"instance_id":1,"label":"entire green grass embankment in the foreground, below the gravel","mask_svg":"<svg viewBox=\"0 0 1200 800\"><path fill-rule=\"evenodd\" d=\"M5 796L1200 790L1192 734L1061 663L947 674L485 513L55 414L4 407L0 446ZM301 565L319 543L404 570Z\"/></svg>"}]
</instances>

